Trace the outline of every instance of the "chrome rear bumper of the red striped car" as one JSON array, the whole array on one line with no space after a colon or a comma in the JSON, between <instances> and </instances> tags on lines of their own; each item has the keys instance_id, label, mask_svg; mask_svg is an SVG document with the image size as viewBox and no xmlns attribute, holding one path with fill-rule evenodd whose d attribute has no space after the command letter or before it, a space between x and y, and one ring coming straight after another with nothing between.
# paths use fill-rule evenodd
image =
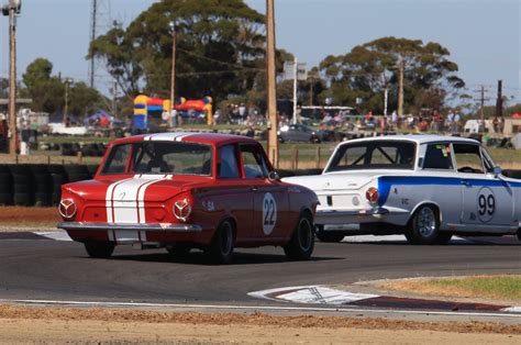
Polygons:
<instances>
[{"instance_id":1,"label":"chrome rear bumper of the red striped car","mask_svg":"<svg viewBox=\"0 0 521 345\"><path fill-rule=\"evenodd\" d=\"M56 225L58 229L74 231L163 231L199 233L202 226L197 224L122 224L122 223L90 223L90 222L62 222Z\"/></svg>"}]
</instances>

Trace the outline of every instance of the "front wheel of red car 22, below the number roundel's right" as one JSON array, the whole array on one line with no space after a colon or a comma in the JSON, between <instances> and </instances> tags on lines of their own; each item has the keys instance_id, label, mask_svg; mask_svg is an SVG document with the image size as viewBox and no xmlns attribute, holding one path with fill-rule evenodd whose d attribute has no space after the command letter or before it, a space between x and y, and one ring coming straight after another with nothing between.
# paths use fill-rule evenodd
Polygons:
<instances>
[{"instance_id":1,"label":"front wheel of red car 22, below the number roundel's right","mask_svg":"<svg viewBox=\"0 0 521 345\"><path fill-rule=\"evenodd\" d=\"M308 213L303 213L300 215L291 240L284 246L284 253L290 260L308 260L313 254L313 219Z\"/></svg>"}]
</instances>

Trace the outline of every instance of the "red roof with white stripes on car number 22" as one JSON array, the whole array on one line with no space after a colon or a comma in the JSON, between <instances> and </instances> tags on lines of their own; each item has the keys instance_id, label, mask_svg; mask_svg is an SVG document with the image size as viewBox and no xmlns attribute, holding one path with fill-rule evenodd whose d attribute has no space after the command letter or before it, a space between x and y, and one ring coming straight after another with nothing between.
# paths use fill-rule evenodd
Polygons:
<instances>
[{"instance_id":1,"label":"red roof with white stripes on car number 22","mask_svg":"<svg viewBox=\"0 0 521 345\"><path fill-rule=\"evenodd\" d=\"M199 133L199 132L165 132L134 135L130 137L119 138L111 144L125 144L134 142L190 142L209 145L222 145L232 143L257 143L254 138L243 135L220 134L220 133Z\"/></svg>"}]
</instances>

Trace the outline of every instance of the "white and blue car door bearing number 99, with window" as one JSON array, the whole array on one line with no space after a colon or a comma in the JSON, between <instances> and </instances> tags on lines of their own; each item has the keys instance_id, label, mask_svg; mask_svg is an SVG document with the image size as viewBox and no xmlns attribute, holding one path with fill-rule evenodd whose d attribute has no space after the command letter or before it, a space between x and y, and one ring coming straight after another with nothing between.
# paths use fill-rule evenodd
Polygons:
<instances>
[{"instance_id":1,"label":"white and blue car door bearing number 99, with window","mask_svg":"<svg viewBox=\"0 0 521 345\"><path fill-rule=\"evenodd\" d=\"M513 190L492 174L494 165L477 144L453 144L462 180L462 223L476 229L497 230L514 226Z\"/></svg>"}]
</instances>

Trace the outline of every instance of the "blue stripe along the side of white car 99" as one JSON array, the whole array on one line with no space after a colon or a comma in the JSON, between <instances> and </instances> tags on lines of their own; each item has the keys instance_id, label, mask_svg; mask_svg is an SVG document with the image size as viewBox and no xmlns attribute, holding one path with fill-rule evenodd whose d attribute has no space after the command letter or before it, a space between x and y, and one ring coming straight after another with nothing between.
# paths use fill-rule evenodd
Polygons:
<instances>
[{"instance_id":1,"label":"blue stripe along the side of white car 99","mask_svg":"<svg viewBox=\"0 0 521 345\"><path fill-rule=\"evenodd\" d=\"M424 176L380 176L378 178L378 205L383 207L392 186L462 186L462 181L466 180L476 187L507 187L507 182L502 180L487 180L459 177L424 177ZM519 188L521 182L508 182L510 187Z\"/></svg>"}]
</instances>

